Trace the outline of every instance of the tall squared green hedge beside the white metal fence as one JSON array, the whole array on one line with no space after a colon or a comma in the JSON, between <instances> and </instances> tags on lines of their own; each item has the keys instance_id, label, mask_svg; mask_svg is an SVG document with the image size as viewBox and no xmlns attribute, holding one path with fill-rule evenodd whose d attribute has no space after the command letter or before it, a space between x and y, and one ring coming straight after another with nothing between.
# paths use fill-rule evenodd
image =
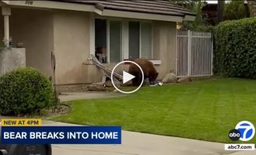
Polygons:
<instances>
[{"instance_id":1,"label":"tall squared green hedge beside the white metal fence","mask_svg":"<svg viewBox=\"0 0 256 155\"><path fill-rule=\"evenodd\" d=\"M221 22L214 36L215 74L256 78L256 18Z\"/></svg>"}]
</instances>

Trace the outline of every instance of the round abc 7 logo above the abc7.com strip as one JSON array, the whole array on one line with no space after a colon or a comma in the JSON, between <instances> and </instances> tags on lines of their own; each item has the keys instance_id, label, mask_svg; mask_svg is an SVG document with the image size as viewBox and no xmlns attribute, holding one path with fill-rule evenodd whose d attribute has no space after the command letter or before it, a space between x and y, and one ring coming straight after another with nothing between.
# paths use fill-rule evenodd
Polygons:
<instances>
[{"instance_id":1,"label":"round abc 7 logo above the abc7.com strip","mask_svg":"<svg viewBox=\"0 0 256 155\"><path fill-rule=\"evenodd\" d=\"M254 137L254 125L248 121L237 123L236 129L231 129L229 133L230 140L248 141Z\"/></svg>"}]
</instances>

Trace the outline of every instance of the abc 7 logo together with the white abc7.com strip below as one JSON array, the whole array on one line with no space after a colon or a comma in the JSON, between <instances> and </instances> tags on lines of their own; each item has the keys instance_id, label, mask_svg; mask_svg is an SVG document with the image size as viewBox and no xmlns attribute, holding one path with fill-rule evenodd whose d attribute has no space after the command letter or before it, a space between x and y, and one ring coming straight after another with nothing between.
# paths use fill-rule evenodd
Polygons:
<instances>
[{"instance_id":1,"label":"abc 7 logo together with the white abc7.com strip below","mask_svg":"<svg viewBox=\"0 0 256 155\"><path fill-rule=\"evenodd\" d=\"M254 138L254 134L255 128L251 122L238 122L237 126L230 130L229 137L230 140L240 141L241 143L226 143L225 150L255 150L255 144L250 143L250 140Z\"/></svg>"}]
</instances>

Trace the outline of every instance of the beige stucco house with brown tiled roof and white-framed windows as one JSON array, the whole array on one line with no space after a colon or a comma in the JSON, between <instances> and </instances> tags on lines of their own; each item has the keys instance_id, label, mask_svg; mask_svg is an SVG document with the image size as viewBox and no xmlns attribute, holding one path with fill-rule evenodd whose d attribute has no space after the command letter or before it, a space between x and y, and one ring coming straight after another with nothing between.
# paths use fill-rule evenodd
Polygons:
<instances>
[{"instance_id":1,"label":"beige stucco house with brown tiled roof and white-framed windows","mask_svg":"<svg viewBox=\"0 0 256 155\"><path fill-rule=\"evenodd\" d=\"M51 51L54 51L56 83L60 85L101 81L103 72L88 60L90 54L110 69L121 60L138 57L153 60L161 79L176 70L176 23L195 19L193 12L167 1L1 1L0 4L5 10L0 18L1 37L4 26L8 27L13 44L24 43L26 66L36 67L47 76L53 74ZM5 22L4 16L8 16Z\"/></svg>"}]
</instances>

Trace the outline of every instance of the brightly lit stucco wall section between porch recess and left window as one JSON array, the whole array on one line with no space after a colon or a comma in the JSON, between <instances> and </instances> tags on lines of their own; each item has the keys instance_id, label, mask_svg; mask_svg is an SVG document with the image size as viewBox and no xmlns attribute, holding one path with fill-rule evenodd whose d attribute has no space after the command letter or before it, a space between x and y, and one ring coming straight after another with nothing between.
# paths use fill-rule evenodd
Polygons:
<instances>
[{"instance_id":1,"label":"brightly lit stucco wall section between porch recess and left window","mask_svg":"<svg viewBox=\"0 0 256 155\"><path fill-rule=\"evenodd\" d=\"M54 12L54 53L57 84L100 81L101 71L84 64L89 57L88 12Z\"/></svg>"}]
</instances>

